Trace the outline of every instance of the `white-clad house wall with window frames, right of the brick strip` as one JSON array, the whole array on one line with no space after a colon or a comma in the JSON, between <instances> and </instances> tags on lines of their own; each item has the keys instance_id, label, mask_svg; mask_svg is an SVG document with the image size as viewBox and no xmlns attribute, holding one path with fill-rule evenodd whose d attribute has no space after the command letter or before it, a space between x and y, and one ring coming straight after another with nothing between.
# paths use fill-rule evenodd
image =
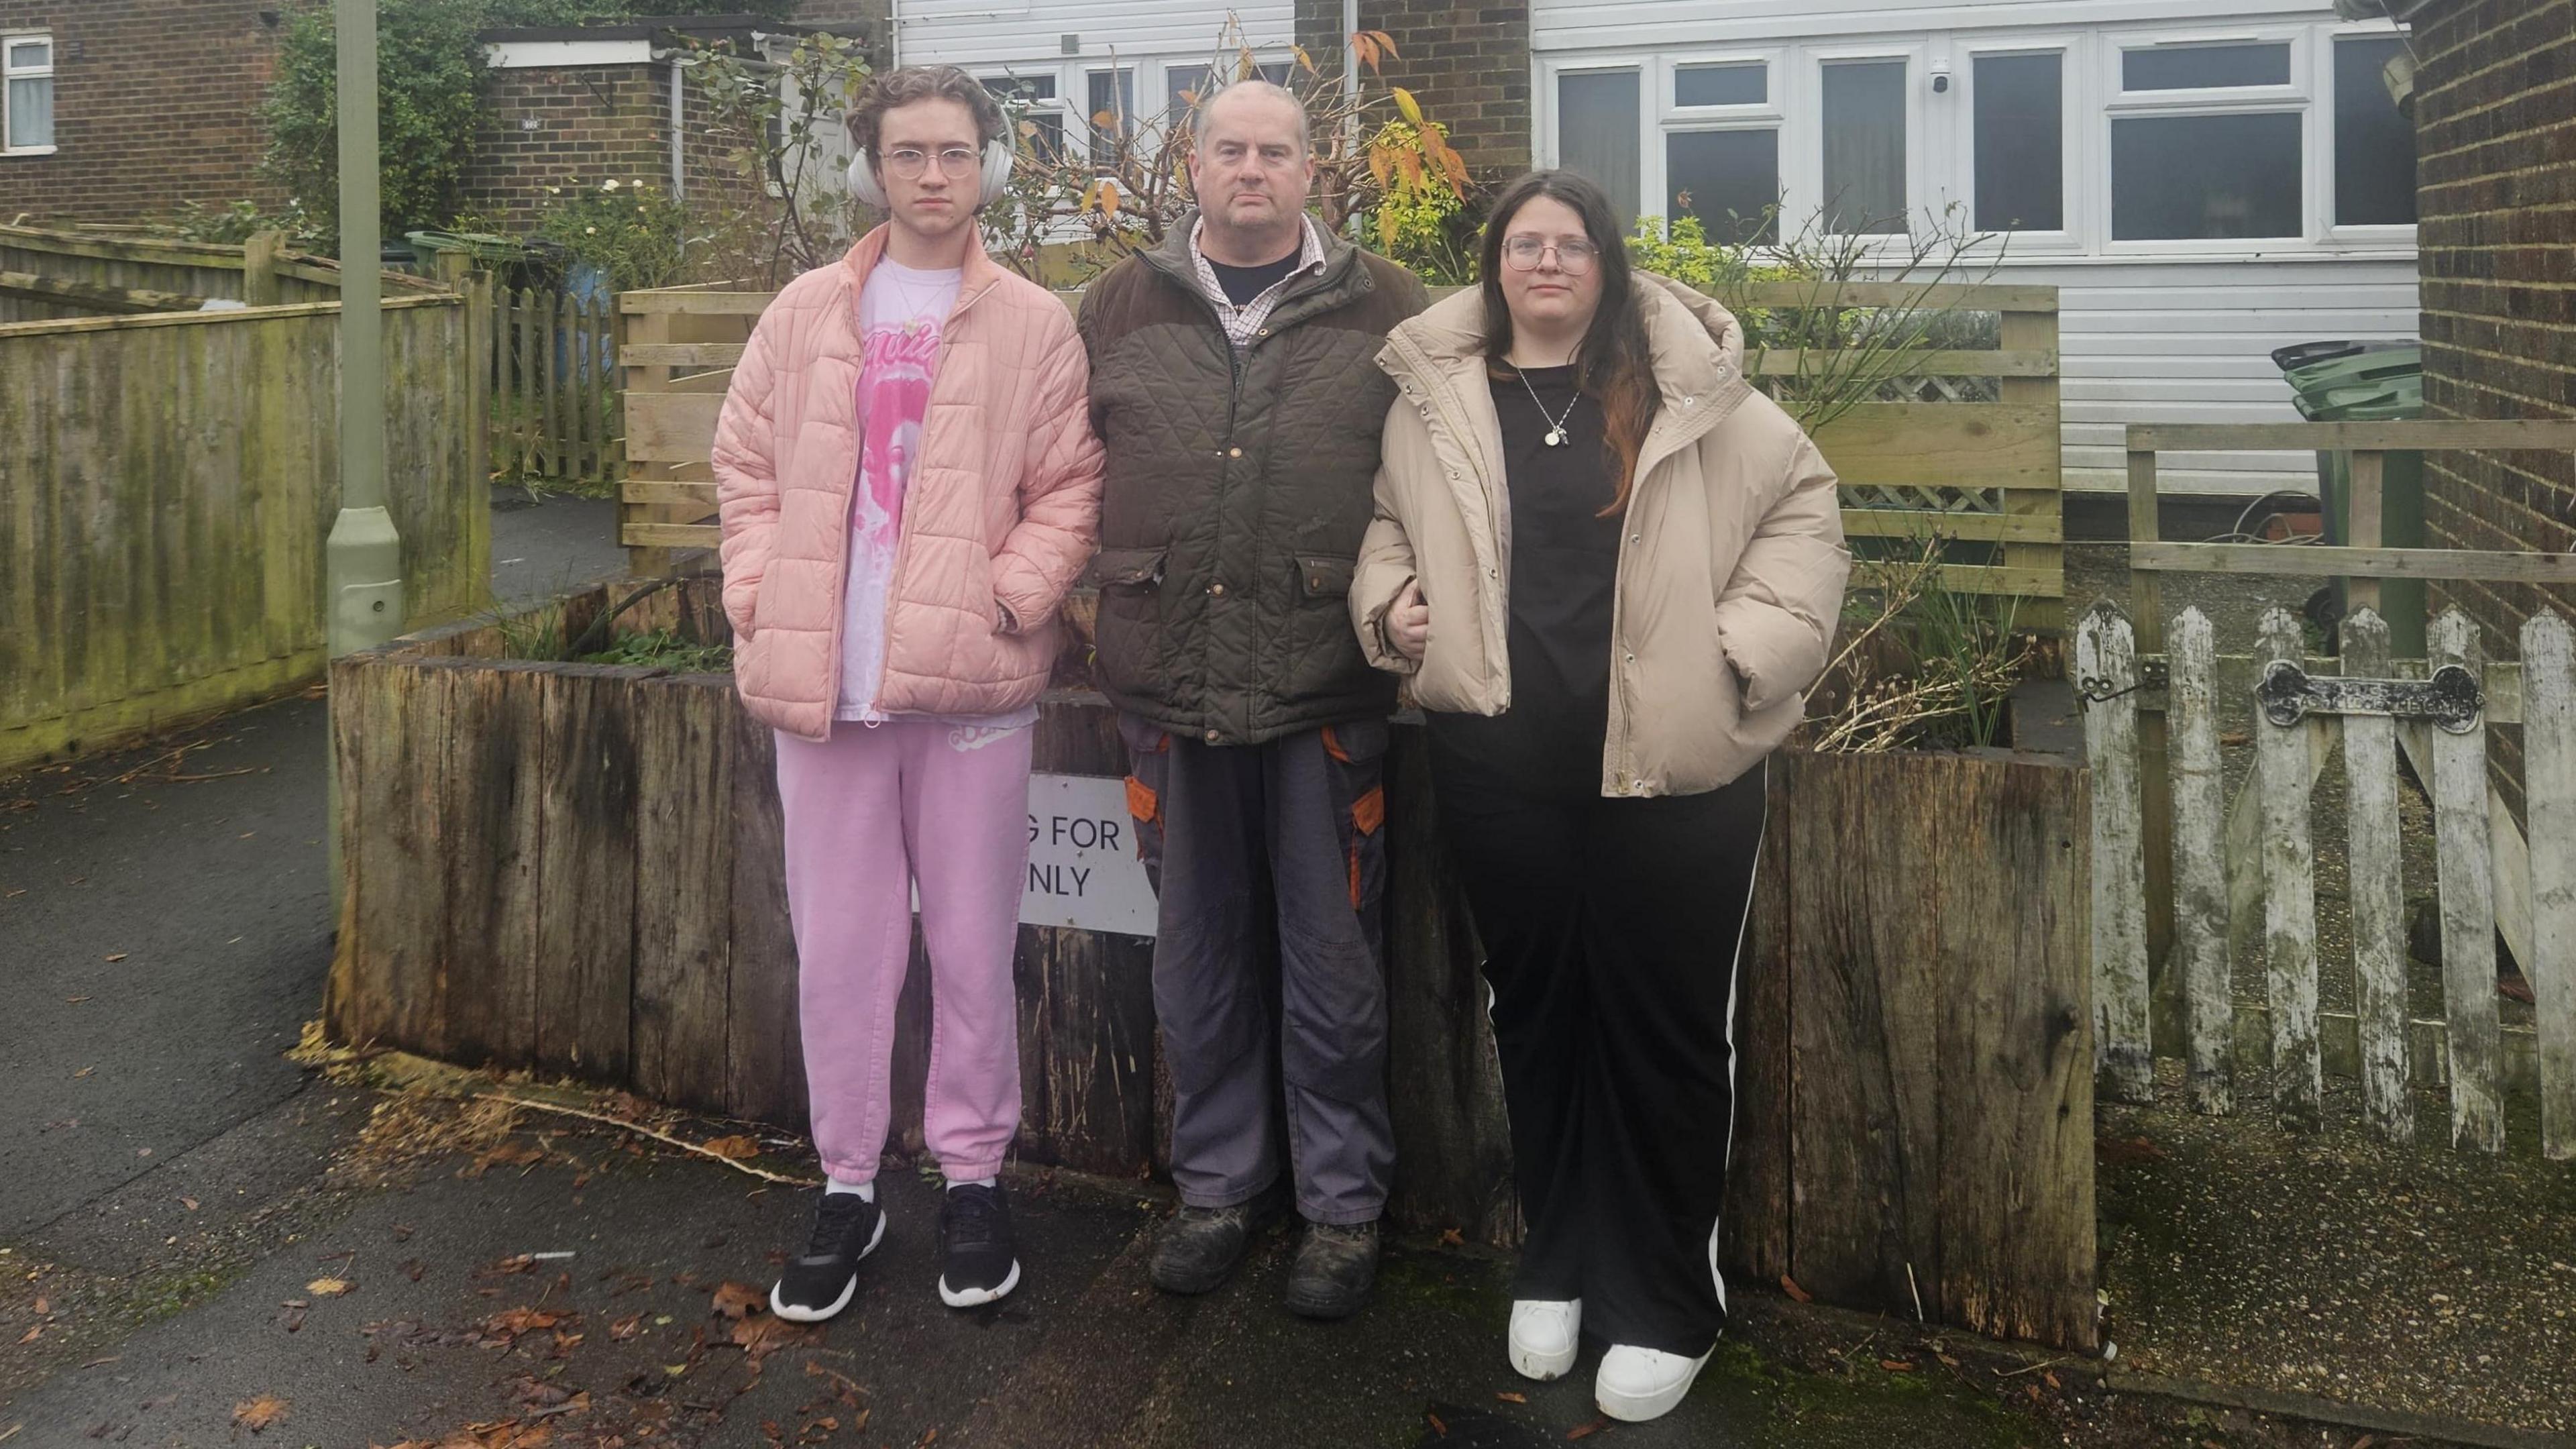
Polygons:
<instances>
[{"instance_id":1,"label":"white-clad house wall with window frames, right of the brick strip","mask_svg":"<svg viewBox=\"0 0 2576 1449\"><path fill-rule=\"evenodd\" d=\"M1682 150L1672 137L1777 131L1777 196L1788 229L1826 199L1824 88L1847 62L1904 62L1904 95L1888 95L1888 126L1901 106L1906 160L1904 209L1914 217L1958 206L1973 224L1978 57L2058 54L2063 214L2050 229L2017 229L1994 281L2061 289L2066 485L2125 490L2128 423L2295 420L2290 387L2272 348L2326 338L2406 340L2416 335L2414 224L2357 224L2336 199L2339 75L2347 41L2393 49L2388 23L2347 23L2326 0L1533 0L1533 152L1543 165L1613 165L1638 211L1664 214L1682 188ZM2275 46L2277 83L2133 90L2125 57L2164 49L2202 67L2200 46ZM1685 67L1762 67L1767 93L1682 93ZM1605 80L1636 75L1638 137L1602 162L1602 126L1618 116ZM1839 72L1850 75L1850 72ZM2197 83L2200 70L2192 70ZM1589 150L1571 126L1566 77L1589 85ZM1947 77L1935 90L1935 77ZM2372 77L2375 80L2375 77ZM2349 101L2362 103L2365 90ZM1690 103L1685 103L1690 101ZM2380 90L2380 101L2385 93ZM2275 211L2267 237L2115 237L2112 131L2120 119L2300 116L2298 211ZM1571 144L1569 144L1571 139ZM1685 142L1692 144L1692 142ZM2290 142L2282 142L2285 147ZM1672 147L1672 150L1667 150ZM1574 152L1574 155L1569 155ZM1589 160L1587 160L1589 157ZM2221 157L2223 160L2223 157ZM2403 175L2403 173L2401 173ZM1893 186L1883 180L1883 186ZM2411 191L2411 188L2409 188ZM2136 229L2136 227L2130 227ZM2172 492L2262 495L2313 487L2306 454L2166 456Z\"/></svg>"}]
</instances>

